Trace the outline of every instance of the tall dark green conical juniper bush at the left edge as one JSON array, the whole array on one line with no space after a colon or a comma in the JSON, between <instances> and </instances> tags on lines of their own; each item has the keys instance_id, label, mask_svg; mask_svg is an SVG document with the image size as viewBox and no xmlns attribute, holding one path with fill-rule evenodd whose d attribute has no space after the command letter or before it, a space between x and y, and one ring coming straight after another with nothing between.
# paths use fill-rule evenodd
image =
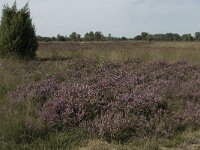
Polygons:
<instances>
[{"instance_id":1,"label":"tall dark green conical juniper bush at the left edge","mask_svg":"<svg viewBox=\"0 0 200 150\"><path fill-rule=\"evenodd\" d=\"M0 24L0 57L33 59L37 47L28 3L20 10L17 10L16 2L12 7L4 5Z\"/></svg>"}]
</instances>

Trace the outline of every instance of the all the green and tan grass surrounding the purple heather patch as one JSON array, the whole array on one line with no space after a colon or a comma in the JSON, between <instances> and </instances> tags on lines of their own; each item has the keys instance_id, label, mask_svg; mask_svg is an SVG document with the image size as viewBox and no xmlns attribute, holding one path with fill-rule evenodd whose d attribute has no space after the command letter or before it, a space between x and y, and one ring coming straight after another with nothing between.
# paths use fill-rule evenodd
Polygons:
<instances>
[{"instance_id":1,"label":"all the green and tan grass surrounding the purple heather patch","mask_svg":"<svg viewBox=\"0 0 200 150\"><path fill-rule=\"evenodd\" d=\"M107 142L79 128L52 130L41 124L31 114L31 104L11 103L10 94L18 86L37 83L48 76L61 81L79 82L69 76L70 65L76 67L77 58L95 59L95 64L80 67L78 71L98 70L105 63L114 64L128 60L148 64L152 61L186 61L200 65L200 43L198 42L105 42L105 43L40 43L38 59L30 62L0 60L0 149L81 149L81 150L173 150L200 149L200 130L187 129L170 138L133 138L126 143ZM66 63L72 62L72 63ZM85 64L87 65L87 64ZM26 128L32 118L33 126Z\"/></svg>"}]
</instances>

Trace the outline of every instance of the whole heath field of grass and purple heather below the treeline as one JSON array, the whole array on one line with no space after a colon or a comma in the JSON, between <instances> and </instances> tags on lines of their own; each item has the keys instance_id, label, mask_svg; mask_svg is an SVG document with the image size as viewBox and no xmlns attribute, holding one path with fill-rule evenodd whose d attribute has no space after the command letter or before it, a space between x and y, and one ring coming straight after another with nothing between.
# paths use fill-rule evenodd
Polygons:
<instances>
[{"instance_id":1,"label":"whole heath field of grass and purple heather below the treeline","mask_svg":"<svg viewBox=\"0 0 200 150\"><path fill-rule=\"evenodd\" d=\"M200 149L200 42L40 43L0 60L0 149Z\"/></svg>"}]
</instances>

